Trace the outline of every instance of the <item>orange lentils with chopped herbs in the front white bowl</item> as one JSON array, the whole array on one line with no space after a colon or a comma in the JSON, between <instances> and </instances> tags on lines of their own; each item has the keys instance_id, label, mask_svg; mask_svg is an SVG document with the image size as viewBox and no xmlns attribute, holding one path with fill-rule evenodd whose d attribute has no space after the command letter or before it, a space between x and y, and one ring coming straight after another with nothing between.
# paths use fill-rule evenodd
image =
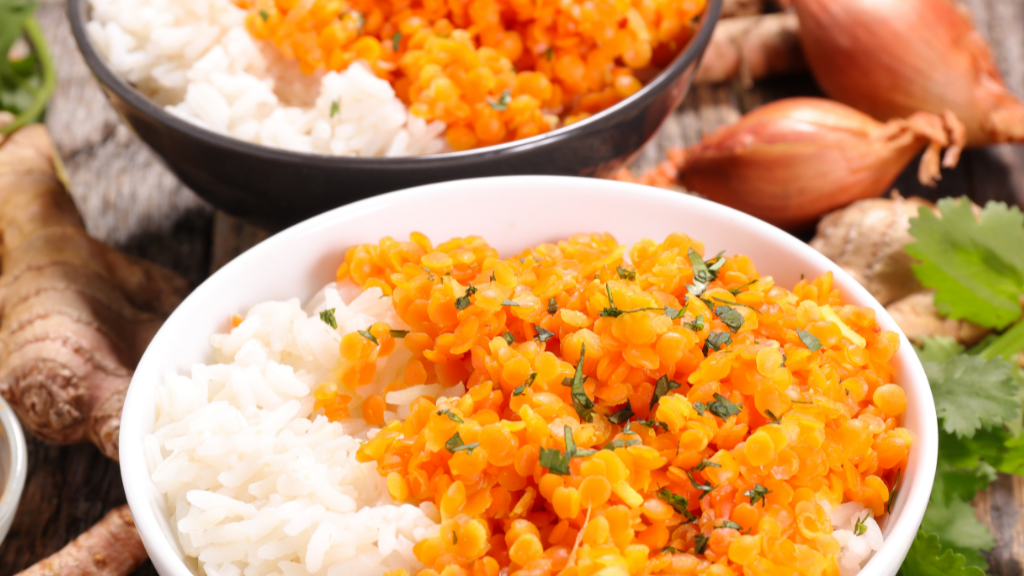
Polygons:
<instances>
[{"instance_id":1,"label":"orange lentils with chopped herbs in the front white bowl","mask_svg":"<svg viewBox=\"0 0 1024 576\"><path fill-rule=\"evenodd\" d=\"M830 274L790 291L682 234L626 257L606 234L506 259L476 237L348 250L339 280L411 331L346 335L340 385L403 343L385 390L467 387L386 424L364 404L383 429L358 458L440 511L420 576L839 574L826 506L885 513L910 450L897 335Z\"/></svg>"}]
</instances>

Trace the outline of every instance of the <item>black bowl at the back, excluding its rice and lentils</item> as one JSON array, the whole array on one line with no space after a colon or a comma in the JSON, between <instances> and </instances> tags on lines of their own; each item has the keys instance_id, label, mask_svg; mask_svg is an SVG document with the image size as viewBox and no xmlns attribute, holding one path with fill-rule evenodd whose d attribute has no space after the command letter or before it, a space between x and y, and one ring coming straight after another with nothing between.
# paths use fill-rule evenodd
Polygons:
<instances>
[{"instance_id":1,"label":"black bowl at the back, excluding its rice and lentils","mask_svg":"<svg viewBox=\"0 0 1024 576\"><path fill-rule=\"evenodd\" d=\"M348 202L430 182L505 174L614 172L682 102L721 6L722 0L710 0L699 31L683 52L636 94L599 114L530 138L411 158L301 154L189 124L108 68L85 32L88 0L71 0L68 16L86 64L115 110L185 184L225 212L282 229Z\"/></svg>"}]
</instances>

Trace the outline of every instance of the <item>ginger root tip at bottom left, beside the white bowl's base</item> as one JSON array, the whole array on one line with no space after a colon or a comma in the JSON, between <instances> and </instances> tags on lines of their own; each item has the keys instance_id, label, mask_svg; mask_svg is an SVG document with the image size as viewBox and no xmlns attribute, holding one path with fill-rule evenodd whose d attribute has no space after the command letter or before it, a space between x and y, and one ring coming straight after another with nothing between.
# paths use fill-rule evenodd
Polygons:
<instances>
[{"instance_id":1,"label":"ginger root tip at bottom left, beside the white bowl's base","mask_svg":"<svg viewBox=\"0 0 1024 576\"><path fill-rule=\"evenodd\" d=\"M60 551L17 576L125 576L146 558L126 504L111 510Z\"/></svg>"}]
</instances>

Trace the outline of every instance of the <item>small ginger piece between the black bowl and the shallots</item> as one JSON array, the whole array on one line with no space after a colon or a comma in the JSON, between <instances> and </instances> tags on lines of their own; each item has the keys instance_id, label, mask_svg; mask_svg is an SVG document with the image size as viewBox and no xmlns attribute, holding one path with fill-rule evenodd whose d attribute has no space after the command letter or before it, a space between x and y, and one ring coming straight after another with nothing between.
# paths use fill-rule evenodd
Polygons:
<instances>
[{"instance_id":1,"label":"small ginger piece between the black bowl and the shallots","mask_svg":"<svg viewBox=\"0 0 1024 576\"><path fill-rule=\"evenodd\" d=\"M720 20L693 81L738 79L749 87L755 80L806 70L797 14L777 12Z\"/></svg>"}]
</instances>

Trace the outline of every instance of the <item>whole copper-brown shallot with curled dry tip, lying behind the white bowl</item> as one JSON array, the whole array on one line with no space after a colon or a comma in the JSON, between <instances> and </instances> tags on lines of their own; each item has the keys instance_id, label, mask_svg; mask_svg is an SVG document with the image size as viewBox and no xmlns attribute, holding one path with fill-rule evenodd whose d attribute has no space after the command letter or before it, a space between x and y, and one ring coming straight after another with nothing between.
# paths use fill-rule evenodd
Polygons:
<instances>
[{"instance_id":1,"label":"whole copper-brown shallot with curled dry tip, lying behind the white bowl","mask_svg":"<svg viewBox=\"0 0 1024 576\"><path fill-rule=\"evenodd\" d=\"M919 179L933 186L940 164L955 166L962 145L963 126L949 114L882 123L836 101L787 98L687 149L678 178L690 192L795 230L881 196L923 150Z\"/></svg>"}]
</instances>

